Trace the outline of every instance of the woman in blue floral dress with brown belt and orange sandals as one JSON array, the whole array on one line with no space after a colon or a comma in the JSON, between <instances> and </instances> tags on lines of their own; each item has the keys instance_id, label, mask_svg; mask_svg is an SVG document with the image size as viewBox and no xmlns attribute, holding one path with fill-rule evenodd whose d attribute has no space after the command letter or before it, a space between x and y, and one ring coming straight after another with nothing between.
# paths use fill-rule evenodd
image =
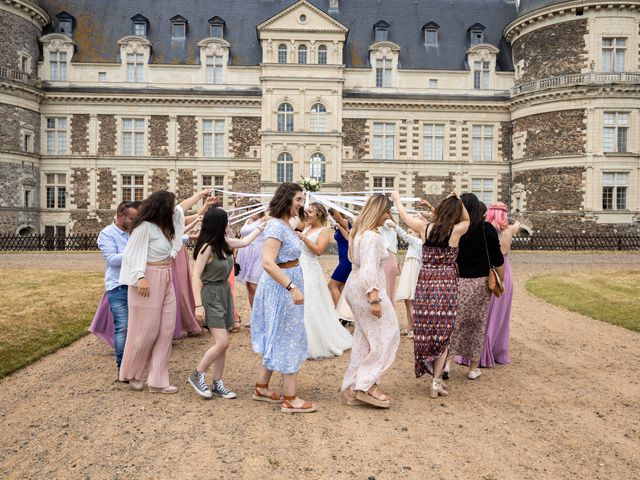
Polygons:
<instances>
[{"instance_id":1,"label":"woman in blue floral dress with brown belt and orange sandals","mask_svg":"<svg viewBox=\"0 0 640 480\"><path fill-rule=\"evenodd\" d=\"M289 220L304 204L300 185L282 183L269 203L262 264L251 315L251 343L262 355L253 399L282 403L284 413L315 412L315 403L296 396L296 375L309 356L304 326L301 246ZM273 372L282 373L284 397L269 390Z\"/></svg>"}]
</instances>

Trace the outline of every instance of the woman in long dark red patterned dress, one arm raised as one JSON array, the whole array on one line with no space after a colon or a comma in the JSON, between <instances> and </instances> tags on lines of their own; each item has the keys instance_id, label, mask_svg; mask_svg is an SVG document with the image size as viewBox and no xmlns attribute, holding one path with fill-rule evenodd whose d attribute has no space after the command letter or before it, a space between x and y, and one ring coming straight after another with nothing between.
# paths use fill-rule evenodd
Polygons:
<instances>
[{"instance_id":1,"label":"woman in long dark red patterned dress, one arm raised","mask_svg":"<svg viewBox=\"0 0 640 480\"><path fill-rule=\"evenodd\" d=\"M397 192L391 195L402 221L423 240L422 268L414 300L413 345L416 377L433 363L431 398L447 395L442 370L458 308L458 242L469 228L469 213L451 193L438 205L430 222L408 215Z\"/></svg>"}]
</instances>

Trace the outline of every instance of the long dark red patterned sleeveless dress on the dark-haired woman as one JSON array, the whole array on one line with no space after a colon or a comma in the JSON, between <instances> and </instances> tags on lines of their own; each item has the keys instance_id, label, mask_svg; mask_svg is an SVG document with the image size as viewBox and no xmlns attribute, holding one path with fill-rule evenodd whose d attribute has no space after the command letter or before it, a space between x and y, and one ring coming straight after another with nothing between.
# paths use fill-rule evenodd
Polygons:
<instances>
[{"instance_id":1,"label":"long dark red patterned sleeveless dress on the dark-haired woman","mask_svg":"<svg viewBox=\"0 0 640 480\"><path fill-rule=\"evenodd\" d=\"M429 363L449 346L458 310L458 249L422 246L422 268L414 300L413 350L416 377L429 372Z\"/></svg>"}]
</instances>

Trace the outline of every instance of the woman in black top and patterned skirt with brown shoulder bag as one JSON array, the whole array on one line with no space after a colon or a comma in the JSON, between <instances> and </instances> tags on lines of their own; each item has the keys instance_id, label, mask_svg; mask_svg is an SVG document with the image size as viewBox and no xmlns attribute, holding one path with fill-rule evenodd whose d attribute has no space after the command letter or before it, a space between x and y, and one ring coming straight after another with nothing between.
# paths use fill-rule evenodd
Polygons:
<instances>
[{"instance_id":1,"label":"woman in black top and patterned skirt with brown shoulder bag","mask_svg":"<svg viewBox=\"0 0 640 480\"><path fill-rule=\"evenodd\" d=\"M458 318L451 335L450 355L469 358L468 378L475 380L480 376L478 361L484 344L484 331L491 300L489 270L491 266L496 267L498 275L502 278L504 259L500 251L498 232L493 225L484 221L487 207L473 193L465 193L461 199L469 212L471 225L458 246Z\"/></svg>"}]
</instances>

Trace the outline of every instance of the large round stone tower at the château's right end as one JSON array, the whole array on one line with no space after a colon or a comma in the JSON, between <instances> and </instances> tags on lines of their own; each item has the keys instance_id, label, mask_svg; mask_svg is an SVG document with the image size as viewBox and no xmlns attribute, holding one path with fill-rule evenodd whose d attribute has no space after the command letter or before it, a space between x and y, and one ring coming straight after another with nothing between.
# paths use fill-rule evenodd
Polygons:
<instances>
[{"instance_id":1,"label":"large round stone tower at the ch\u00e2teau's right end","mask_svg":"<svg viewBox=\"0 0 640 480\"><path fill-rule=\"evenodd\" d=\"M640 230L640 1L521 0L512 208L533 231Z\"/></svg>"}]
</instances>

